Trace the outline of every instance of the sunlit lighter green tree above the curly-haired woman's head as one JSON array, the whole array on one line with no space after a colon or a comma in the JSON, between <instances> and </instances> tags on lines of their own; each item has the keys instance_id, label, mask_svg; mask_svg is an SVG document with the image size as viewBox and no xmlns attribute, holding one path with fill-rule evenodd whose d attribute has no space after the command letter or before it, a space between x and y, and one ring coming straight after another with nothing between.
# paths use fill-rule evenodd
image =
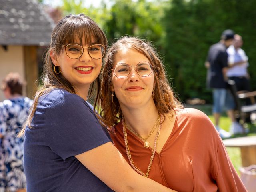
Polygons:
<instances>
[{"instance_id":1,"label":"sunlit lighter green tree above the curly-haired woman's head","mask_svg":"<svg viewBox=\"0 0 256 192\"><path fill-rule=\"evenodd\" d=\"M123 35L140 36L155 43L160 42L164 1L114 0L110 17L104 24L109 42Z\"/></svg>"}]
</instances>

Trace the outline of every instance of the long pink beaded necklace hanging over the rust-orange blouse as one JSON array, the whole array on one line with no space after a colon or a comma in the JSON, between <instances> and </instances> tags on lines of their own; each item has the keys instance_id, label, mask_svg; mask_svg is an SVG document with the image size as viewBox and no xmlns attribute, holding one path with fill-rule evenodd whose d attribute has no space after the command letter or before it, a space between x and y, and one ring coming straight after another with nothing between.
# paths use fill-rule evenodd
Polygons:
<instances>
[{"instance_id":1,"label":"long pink beaded necklace hanging over the rust-orange blouse","mask_svg":"<svg viewBox=\"0 0 256 192\"><path fill-rule=\"evenodd\" d=\"M158 126L158 130L157 130L157 133L156 133L156 138L155 138L155 142L154 142L154 148L152 149L152 155L150 157L150 163L148 165L148 168L147 168L147 172L146 174L144 174L138 167L136 167L136 165L134 164L133 160L132 160L132 156L130 154L130 150L129 150L129 144L128 144L128 139L127 139L127 133L126 133L126 124L124 122L124 117L122 118L122 125L123 125L123 133L124 133L124 144L125 144L125 149L126 149L126 154L127 154L127 157L128 157L128 160L130 162L130 165L132 166L132 168L138 172L139 174L141 174L142 176L145 176L145 177L148 177L149 175L149 171L151 169L151 166L152 166L152 162L153 162L153 159L154 159L154 156L155 156L155 153L156 153L156 145L157 145L157 142L158 142L158 137L159 137L159 134L160 134L160 130L161 130L161 127L162 127L162 121L163 121L163 118L162 118L162 115L160 114L158 116L158 119L156 121L156 127ZM154 129L154 128L153 128ZM152 134L152 133L151 133Z\"/></svg>"}]
</instances>

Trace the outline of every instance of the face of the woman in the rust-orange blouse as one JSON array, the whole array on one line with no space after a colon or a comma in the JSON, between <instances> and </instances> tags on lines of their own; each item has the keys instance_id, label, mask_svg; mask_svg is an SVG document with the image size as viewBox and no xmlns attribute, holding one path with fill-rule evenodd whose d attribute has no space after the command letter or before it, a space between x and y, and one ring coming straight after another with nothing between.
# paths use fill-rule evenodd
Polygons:
<instances>
[{"instance_id":1,"label":"face of the woman in the rust-orange blouse","mask_svg":"<svg viewBox=\"0 0 256 192\"><path fill-rule=\"evenodd\" d=\"M146 77L139 76L134 66L140 62L150 62L150 60L132 48L121 50L115 56L113 68L120 63L131 66L130 74L126 78L118 78L112 72L112 86L121 108L138 108L146 104L154 104L152 98L154 72Z\"/></svg>"}]
</instances>

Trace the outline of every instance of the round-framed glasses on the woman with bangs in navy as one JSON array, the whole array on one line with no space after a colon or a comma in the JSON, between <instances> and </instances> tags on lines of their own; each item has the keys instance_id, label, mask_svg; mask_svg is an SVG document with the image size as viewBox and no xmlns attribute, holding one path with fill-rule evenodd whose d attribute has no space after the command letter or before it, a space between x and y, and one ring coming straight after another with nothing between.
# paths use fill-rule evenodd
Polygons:
<instances>
[{"instance_id":1,"label":"round-framed glasses on the woman with bangs in navy","mask_svg":"<svg viewBox=\"0 0 256 192\"><path fill-rule=\"evenodd\" d=\"M91 45L90 47L82 47L78 44L62 45L65 48L67 56L71 59L78 59L84 53L84 48L88 49L88 54L93 59L101 59L106 51L106 46L101 44Z\"/></svg>"}]
</instances>

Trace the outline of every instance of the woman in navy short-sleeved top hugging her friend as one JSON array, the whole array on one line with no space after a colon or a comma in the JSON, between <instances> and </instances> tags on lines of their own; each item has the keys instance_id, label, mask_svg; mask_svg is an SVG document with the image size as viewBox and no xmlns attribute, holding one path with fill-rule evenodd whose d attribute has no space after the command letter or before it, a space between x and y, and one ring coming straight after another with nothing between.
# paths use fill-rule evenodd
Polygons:
<instances>
[{"instance_id":1,"label":"woman in navy short-sleeved top hugging her friend","mask_svg":"<svg viewBox=\"0 0 256 192\"><path fill-rule=\"evenodd\" d=\"M86 101L94 89L99 96L106 44L83 14L54 28L44 85L20 132L28 192L173 191L129 166Z\"/></svg>"}]
</instances>

